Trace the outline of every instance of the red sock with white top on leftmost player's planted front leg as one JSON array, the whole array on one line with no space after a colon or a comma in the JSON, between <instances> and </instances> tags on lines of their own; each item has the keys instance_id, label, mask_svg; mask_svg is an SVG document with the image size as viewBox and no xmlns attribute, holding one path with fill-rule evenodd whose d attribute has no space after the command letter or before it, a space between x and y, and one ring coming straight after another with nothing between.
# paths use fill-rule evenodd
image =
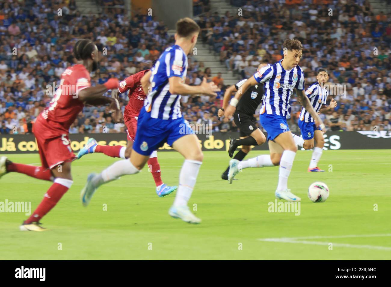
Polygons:
<instances>
[{"instance_id":1,"label":"red sock with white top on leftmost player's planted front leg","mask_svg":"<svg viewBox=\"0 0 391 287\"><path fill-rule=\"evenodd\" d=\"M64 178L56 178L54 184L50 186L45 193L43 200L39 203L38 207L31 216L24 222L24 224L30 224L32 222L38 222L45 214L47 214L61 199L61 197L68 191L72 185L72 180Z\"/></svg>"}]
</instances>

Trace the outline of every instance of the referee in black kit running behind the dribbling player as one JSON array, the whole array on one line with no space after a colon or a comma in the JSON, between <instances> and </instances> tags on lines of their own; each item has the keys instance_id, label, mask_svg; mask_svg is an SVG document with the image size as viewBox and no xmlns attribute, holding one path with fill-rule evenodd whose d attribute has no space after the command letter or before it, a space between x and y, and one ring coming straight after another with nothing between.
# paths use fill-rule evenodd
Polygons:
<instances>
[{"instance_id":1,"label":"referee in black kit running behind the dribbling player","mask_svg":"<svg viewBox=\"0 0 391 287\"><path fill-rule=\"evenodd\" d=\"M259 71L264 66L267 66L267 62L261 62L256 71ZM224 115L224 109L228 107L233 92L240 89L240 86L247 79L241 80L239 83L232 85L226 89L223 98L222 108L219 109L217 115L219 117ZM235 114L233 114L233 120L240 130L240 139L231 139L230 147L228 149L228 155L233 156L236 148L242 146L242 149L236 153L234 159L242 160L250 152L251 146L261 145L266 141L264 133L256 127L255 124L255 110L264 98L264 85L256 85L250 87L246 93L240 98L236 107ZM228 180L228 171L230 166L221 175L221 178Z\"/></svg>"}]
</instances>

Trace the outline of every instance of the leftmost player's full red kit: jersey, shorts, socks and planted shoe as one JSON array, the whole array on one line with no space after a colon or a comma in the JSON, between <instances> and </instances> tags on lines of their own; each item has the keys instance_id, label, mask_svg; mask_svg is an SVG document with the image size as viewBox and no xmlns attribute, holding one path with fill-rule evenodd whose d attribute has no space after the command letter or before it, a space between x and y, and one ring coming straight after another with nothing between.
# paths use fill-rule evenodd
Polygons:
<instances>
[{"instance_id":1,"label":"leftmost player's full red kit: jersey, shorts, socks and planted shoe","mask_svg":"<svg viewBox=\"0 0 391 287\"><path fill-rule=\"evenodd\" d=\"M71 179L54 178L50 169L76 159L68 138L69 127L84 107L83 102L78 99L79 91L90 86L90 73L83 65L67 68L61 75L60 86L53 100L38 115L33 125L42 166L14 162L7 164L7 172L24 173L41 180L54 181L36 210L20 226L21 230L45 230L32 223L39 222L72 186Z\"/></svg>"}]
</instances>

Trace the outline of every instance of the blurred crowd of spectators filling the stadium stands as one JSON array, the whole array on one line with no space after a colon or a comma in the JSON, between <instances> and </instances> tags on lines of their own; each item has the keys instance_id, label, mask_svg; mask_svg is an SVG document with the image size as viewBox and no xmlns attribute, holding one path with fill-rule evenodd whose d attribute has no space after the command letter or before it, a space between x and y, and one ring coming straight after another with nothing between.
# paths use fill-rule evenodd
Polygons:
<instances>
[{"instance_id":1,"label":"blurred crowd of spectators filling the stadium stands","mask_svg":"<svg viewBox=\"0 0 391 287\"><path fill-rule=\"evenodd\" d=\"M77 11L74 0L0 3L0 133L31 132L34 119L52 100L52 86L74 63L72 47L77 39L91 39L102 51L99 69L91 73L92 85L149 68L174 43L168 28L154 16L135 11L130 19L118 7L121 1L101 2L117 6L87 17ZM201 27L197 45L208 45L238 81L251 77L260 61L282 59L284 39L296 38L304 47L299 65L306 87L316 81L321 67L329 71L328 84L343 87L343 93L333 95L338 106L321 115L327 130L391 130L389 15L374 15L368 0L230 2L242 14L211 13L209 1L194 1ZM215 132L237 130L232 120L217 118L226 88L221 74L212 77L197 55L189 56L186 83L197 85L203 78L215 82L221 92L216 97L183 95L184 117L190 123L208 124ZM124 109L127 94L121 97ZM298 131L301 107L295 95L290 105L288 123ZM122 123L113 123L108 107L86 106L70 130L100 132L124 132Z\"/></svg>"}]
</instances>

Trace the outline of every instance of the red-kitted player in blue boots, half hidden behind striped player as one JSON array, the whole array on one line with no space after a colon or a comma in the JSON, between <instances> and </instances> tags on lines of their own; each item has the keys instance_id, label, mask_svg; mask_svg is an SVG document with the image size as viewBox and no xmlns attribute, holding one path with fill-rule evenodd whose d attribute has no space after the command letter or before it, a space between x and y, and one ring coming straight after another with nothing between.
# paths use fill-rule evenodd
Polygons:
<instances>
[{"instance_id":1,"label":"red-kitted player in blue boots, half hidden behind striped player","mask_svg":"<svg viewBox=\"0 0 391 287\"><path fill-rule=\"evenodd\" d=\"M156 61L152 62L152 67ZM120 157L122 159L129 159L130 153L133 148L133 142L135 141L136 131L137 131L137 118L140 114L141 108L144 106L144 101L146 99L145 93L142 89L140 80L147 73L148 70L140 71L127 77L125 80L120 82L118 91L120 93L125 93L129 91L128 97L129 102L127 103L124 111L124 123L127 127L127 145L124 146L102 146L97 143L93 138L89 139L84 148L80 150L77 154L77 158L80 159L83 155L87 153L104 153L109 157ZM154 151L151 157L148 160L149 171L151 171L153 179L156 184L156 194L159 197L166 196L167 194L172 193L178 187L169 186L163 183L161 180L160 164L157 158L157 152Z\"/></svg>"}]
</instances>

